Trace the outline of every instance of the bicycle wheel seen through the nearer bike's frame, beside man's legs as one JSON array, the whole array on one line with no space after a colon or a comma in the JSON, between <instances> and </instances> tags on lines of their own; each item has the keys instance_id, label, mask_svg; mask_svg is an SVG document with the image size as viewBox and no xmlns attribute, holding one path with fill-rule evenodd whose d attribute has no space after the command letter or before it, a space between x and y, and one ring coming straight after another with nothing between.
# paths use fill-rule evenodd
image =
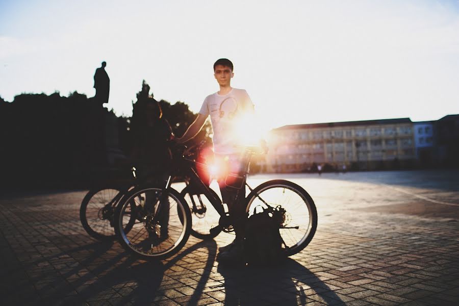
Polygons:
<instances>
[{"instance_id":1,"label":"bicycle wheel seen through the nearer bike's frame, beside man's legs","mask_svg":"<svg viewBox=\"0 0 459 306\"><path fill-rule=\"evenodd\" d=\"M197 198L197 196L201 196L201 200L207 199L207 197L204 194L196 194L194 192L190 194L190 190L192 190L192 188L190 186L187 186L182 190L180 194L188 203L188 206L191 211L191 236L202 240L208 240L217 237L218 234L221 233L221 227L218 226L220 215L212 206L212 203L209 200L207 200L207 205L205 205L206 211L203 213L202 217L199 216L199 212L193 212L193 203L191 202L191 197L194 198L195 202L196 200L199 201L199 198ZM210 188L209 190L216 198L218 198L218 194L214 190ZM210 215L208 214L208 212L210 212ZM211 220L208 222L209 219ZM212 231L210 231L211 228L213 228Z\"/></svg>"}]
</instances>

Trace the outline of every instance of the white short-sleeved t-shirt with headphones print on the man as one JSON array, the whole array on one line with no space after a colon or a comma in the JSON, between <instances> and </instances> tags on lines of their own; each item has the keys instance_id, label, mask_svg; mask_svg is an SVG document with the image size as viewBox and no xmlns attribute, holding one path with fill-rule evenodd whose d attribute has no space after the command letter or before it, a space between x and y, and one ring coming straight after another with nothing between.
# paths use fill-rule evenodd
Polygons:
<instances>
[{"instance_id":1,"label":"white short-sleeved t-shirt with headphones print on the man","mask_svg":"<svg viewBox=\"0 0 459 306\"><path fill-rule=\"evenodd\" d=\"M234 132L234 125L238 118L246 114L253 114L253 103L247 91L233 88L225 95L213 93L208 95L202 103L199 114L211 116L214 136L214 151L216 154L235 154L238 152L238 139Z\"/></svg>"}]
</instances>

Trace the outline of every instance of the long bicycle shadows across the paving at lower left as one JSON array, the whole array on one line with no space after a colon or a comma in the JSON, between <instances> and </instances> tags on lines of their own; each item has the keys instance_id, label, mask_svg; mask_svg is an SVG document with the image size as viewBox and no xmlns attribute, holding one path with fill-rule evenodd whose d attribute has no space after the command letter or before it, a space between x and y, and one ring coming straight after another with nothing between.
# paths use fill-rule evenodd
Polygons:
<instances>
[{"instance_id":1,"label":"long bicycle shadows across the paving at lower left","mask_svg":"<svg viewBox=\"0 0 459 306\"><path fill-rule=\"evenodd\" d=\"M85 302L100 303L104 301L108 302L108 300L110 300L111 304L115 305L124 305L127 303L136 305L151 304L157 297L161 296L161 283L163 282L165 272L178 262L181 265L186 265L186 261L181 261L196 250L202 253L201 248L207 249L208 258L205 266L201 268L203 272L188 301L189 305L197 305L202 291L208 282L215 261L217 244L214 240L200 241L177 254L166 263L161 261L146 262L137 260L124 251L117 253L116 256L105 261L103 264L97 264L97 259L110 251L111 248L108 244L91 244L86 247L78 247L61 252L46 260L54 260L62 256L73 258L81 256L80 253L82 251L93 251L87 259L78 262L71 269L62 273L61 276L68 278L81 273L81 271L86 271L86 273L72 279L70 284L56 280L41 287L39 293L42 298L37 304L68 305ZM37 277L46 277L46 275L41 274L37 275Z\"/></svg>"}]
</instances>

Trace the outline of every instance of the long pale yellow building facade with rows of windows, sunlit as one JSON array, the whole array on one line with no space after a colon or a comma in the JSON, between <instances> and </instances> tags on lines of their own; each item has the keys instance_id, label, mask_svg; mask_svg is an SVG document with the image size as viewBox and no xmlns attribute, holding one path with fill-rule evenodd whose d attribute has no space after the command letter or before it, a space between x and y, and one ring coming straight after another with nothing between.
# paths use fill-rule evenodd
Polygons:
<instances>
[{"instance_id":1,"label":"long pale yellow building facade with rows of windows, sunlit","mask_svg":"<svg viewBox=\"0 0 459 306\"><path fill-rule=\"evenodd\" d=\"M416 160L410 118L286 125L272 130L261 168L302 172L318 164L336 169L406 168Z\"/></svg>"}]
</instances>

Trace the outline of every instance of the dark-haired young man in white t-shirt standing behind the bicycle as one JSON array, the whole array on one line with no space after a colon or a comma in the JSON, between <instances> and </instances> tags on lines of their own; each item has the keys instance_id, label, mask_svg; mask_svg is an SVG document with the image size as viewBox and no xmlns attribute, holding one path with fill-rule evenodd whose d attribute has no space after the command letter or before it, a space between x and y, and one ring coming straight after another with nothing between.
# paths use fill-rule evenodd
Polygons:
<instances>
[{"instance_id":1,"label":"dark-haired young man in white t-shirt standing behind the bicycle","mask_svg":"<svg viewBox=\"0 0 459 306\"><path fill-rule=\"evenodd\" d=\"M235 130L238 118L253 114L254 107L249 95L243 89L231 87L231 79L234 77L233 63L228 59L219 59L214 64L214 77L220 86L220 90L204 99L202 107L195 121L188 130L177 139L178 143L184 143L202 129L207 117L210 115L214 143L214 153L217 160L228 163L232 172L240 172L243 163L241 160L241 148L239 137ZM226 203L232 218L232 224L236 233L236 239L228 246L221 247L218 256L219 261L237 262L243 258L245 208L243 201L235 203L234 199L239 190L227 187L225 177L219 179L219 186L223 203ZM245 187L243 187L245 191ZM242 191L241 191L242 192ZM245 195L245 194L244 194Z\"/></svg>"}]
</instances>

